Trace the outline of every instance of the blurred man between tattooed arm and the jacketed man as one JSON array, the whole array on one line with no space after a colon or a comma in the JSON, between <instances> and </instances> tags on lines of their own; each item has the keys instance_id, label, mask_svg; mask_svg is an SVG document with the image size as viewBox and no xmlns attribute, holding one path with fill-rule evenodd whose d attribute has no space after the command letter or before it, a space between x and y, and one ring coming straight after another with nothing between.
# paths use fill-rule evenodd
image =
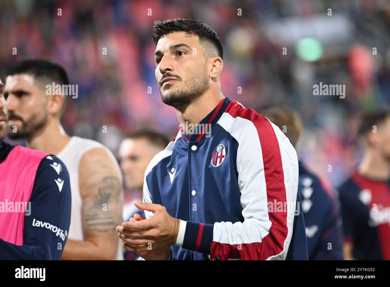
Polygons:
<instances>
[{"instance_id":1,"label":"blurred man between tattooed arm and the jacketed man","mask_svg":"<svg viewBox=\"0 0 390 287\"><path fill-rule=\"evenodd\" d=\"M145 216L144 210L134 206L134 201L142 201L142 190L147 165L152 158L169 143L168 138L158 131L138 130L128 135L119 146L119 157L124 178L123 221L128 221L135 213ZM125 260L133 260L138 255L127 251Z\"/></svg>"}]
</instances>

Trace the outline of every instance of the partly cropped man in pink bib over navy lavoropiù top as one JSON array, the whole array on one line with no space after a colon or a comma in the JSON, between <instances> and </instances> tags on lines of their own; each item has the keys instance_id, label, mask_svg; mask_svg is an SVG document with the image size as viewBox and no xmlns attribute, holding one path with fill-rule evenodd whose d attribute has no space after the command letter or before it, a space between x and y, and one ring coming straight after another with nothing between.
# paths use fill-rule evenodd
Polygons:
<instances>
[{"instance_id":1,"label":"partly cropped man in pink bib over navy lavoropi\u00f9 top","mask_svg":"<svg viewBox=\"0 0 390 287\"><path fill-rule=\"evenodd\" d=\"M0 80L0 260L59 260L68 238L71 185L54 155L4 142Z\"/></svg>"}]
</instances>

